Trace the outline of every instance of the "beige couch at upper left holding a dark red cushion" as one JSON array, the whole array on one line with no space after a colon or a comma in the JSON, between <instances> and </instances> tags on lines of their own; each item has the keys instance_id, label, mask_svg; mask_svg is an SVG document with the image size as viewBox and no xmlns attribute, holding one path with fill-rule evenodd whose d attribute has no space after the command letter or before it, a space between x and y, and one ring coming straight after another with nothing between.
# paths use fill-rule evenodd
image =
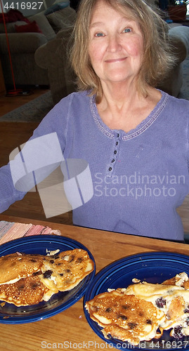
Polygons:
<instances>
[{"instance_id":1,"label":"beige couch at upper left holding a dark red cushion","mask_svg":"<svg viewBox=\"0 0 189 351\"><path fill-rule=\"evenodd\" d=\"M74 21L75 15L75 11L70 6L48 15L45 15L44 12L32 15L28 20L30 22L35 21L41 33L15 32L15 25L27 25L23 21L6 24L16 86L49 85L47 69L37 65L34 53L41 45L53 41L60 29ZM13 79L3 23L0 24L0 58L5 84L6 86L11 86Z\"/></svg>"}]
</instances>

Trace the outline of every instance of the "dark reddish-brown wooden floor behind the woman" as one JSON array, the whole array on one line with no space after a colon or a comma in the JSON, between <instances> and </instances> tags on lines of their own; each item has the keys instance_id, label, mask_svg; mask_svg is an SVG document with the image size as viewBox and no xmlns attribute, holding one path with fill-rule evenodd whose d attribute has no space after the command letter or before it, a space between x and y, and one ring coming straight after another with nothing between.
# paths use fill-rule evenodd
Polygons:
<instances>
[{"instance_id":1,"label":"dark reddish-brown wooden floor behind the woman","mask_svg":"<svg viewBox=\"0 0 189 351\"><path fill-rule=\"evenodd\" d=\"M14 110L16 107L36 98L45 93L46 89L35 89L32 95L17 96L14 98L0 97L0 118L7 112ZM0 166L4 166L8 162L9 154L15 147L25 143L32 135L32 131L37 127L36 123L0 123ZM184 231L189 233L189 195L185 198L183 205L178 208L178 213L182 218ZM10 216L21 216L22 218L31 218L38 220L46 220L55 223L72 224L72 213L68 212L53 218L46 218L44 209L37 192L29 192L22 201L18 201L11 205L4 212Z\"/></svg>"}]
</instances>

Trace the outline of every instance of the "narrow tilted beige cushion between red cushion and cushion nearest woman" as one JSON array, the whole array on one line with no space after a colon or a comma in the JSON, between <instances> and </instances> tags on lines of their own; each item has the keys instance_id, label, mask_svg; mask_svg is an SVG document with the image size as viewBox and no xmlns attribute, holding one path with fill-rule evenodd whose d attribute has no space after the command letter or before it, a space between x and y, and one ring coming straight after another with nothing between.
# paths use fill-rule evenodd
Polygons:
<instances>
[{"instance_id":1,"label":"narrow tilted beige cushion between red cushion and cushion nearest woman","mask_svg":"<svg viewBox=\"0 0 189 351\"><path fill-rule=\"evenodd\" d=\"M32 15L28 17L28 20L30 20L30 22L32 21L37 22L37 25L39 25L41 32L46 36L46 39L48 41L56 37L56 34L53 28L51 27L51 25L49 24L48 20L46 19L44 12L37 13L36 15Z\"/></svg>"}]
</instances>

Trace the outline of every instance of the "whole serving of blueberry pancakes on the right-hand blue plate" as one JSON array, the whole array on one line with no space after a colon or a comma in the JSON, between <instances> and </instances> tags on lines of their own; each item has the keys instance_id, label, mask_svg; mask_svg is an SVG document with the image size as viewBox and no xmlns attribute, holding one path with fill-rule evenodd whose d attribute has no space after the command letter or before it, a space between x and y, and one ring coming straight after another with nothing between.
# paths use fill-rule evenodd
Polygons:
<instances>
[{"instance_id":1,"label":"whole serving of blueberry pancakes on the right-hand blue plate","mask_svg":"<svg viewBox=\"0 0 189 351\"><path fill-rule=\"evenodd\" d=\"M189 336L189 279L185 272L162 284L133 278L127 288L109 289L86 302L91 319L109 335L132 345L170 330L176 339Z\"/></svg>"}]
</instances>

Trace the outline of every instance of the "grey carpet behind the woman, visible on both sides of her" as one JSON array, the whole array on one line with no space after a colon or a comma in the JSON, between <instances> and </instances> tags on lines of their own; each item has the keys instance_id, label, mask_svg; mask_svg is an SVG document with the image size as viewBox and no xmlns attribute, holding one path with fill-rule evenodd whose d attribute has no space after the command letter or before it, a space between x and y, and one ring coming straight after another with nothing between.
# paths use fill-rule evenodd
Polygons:
<instances>
[{"instance_id":1,"label":"grey carpet behind the woman, visible on both sides of her","mask_svg":"<svg viewBox=\"0 0 189 351\"><path fill-rule=\"evenodd\" d=\"M178 98L189 100L189 55L183 61L183 86ZM53 99L51 91L48 91L25 105L4 114L0 117L0 122L40 122L52 108Z\"/></svg>"}]
</instances>

